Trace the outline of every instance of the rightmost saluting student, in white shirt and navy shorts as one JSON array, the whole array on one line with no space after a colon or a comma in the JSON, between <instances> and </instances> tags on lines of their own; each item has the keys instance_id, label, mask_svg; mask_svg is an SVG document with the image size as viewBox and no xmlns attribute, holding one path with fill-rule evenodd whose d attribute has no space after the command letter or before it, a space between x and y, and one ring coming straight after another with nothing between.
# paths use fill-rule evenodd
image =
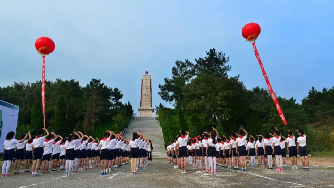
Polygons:
<instances>
[{"instance_id":1,"label":"rightmost saluting student, in white shirt and navy shorts","mask_svg":"<svg viewBox=\"0 0 334 188\"><path fill-rule=\"evenodd\" d=\"M308 152L306 148L306 135L303 130L296 130L298 132L299 137L297 138L297 152L302 159L303 170L309 169L309 158Z\"/></svg>"}]
</instances>

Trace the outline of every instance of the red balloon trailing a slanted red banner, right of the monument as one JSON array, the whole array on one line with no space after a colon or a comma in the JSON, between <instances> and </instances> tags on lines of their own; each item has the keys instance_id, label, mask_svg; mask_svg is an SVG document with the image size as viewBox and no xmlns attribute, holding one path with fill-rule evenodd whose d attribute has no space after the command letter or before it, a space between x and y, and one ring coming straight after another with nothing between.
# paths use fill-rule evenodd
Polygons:
<instances>
[{"instance_id":1,"label":"red balloon trailing a slanted red banner, right of the monument","mask_svg":"<svg viewBox=\"0 0 334 188\"><path fill-rule=\"evenodd\" d=\"M265 80L266 80L266 83L267 83L267 86L268 86L268 89L269 89L270 96L272 97L272 99L274 101L274 104L276 106L277 112L280 115L280 118L281 118L283 124L287 125L288 122L287 122L287 120L284 117L284 114L283 114L283 111L282 111L282 109L280 107L280 104L277 101L276 95L274 93L274 90L273 90L273 88L272 88L272 86L271 86L271 84L269 82L269 78L268 78L267 73L265 71L265 67L262 64L262 61L261 61L258 49L256 48L256 45L255 45L255 40L258 38L258 36L260 35L260 33L261 33L261 27L260 27L260 25L257 24L257 23L254 23L254 22L247 23L241 29L241 34L246 39L246 41L253 42L253 49L254 49L254 52L255 52L255 56L258 59L258 62L260 64L263 76L265 77Z\"/></svg>"}]
</instances>

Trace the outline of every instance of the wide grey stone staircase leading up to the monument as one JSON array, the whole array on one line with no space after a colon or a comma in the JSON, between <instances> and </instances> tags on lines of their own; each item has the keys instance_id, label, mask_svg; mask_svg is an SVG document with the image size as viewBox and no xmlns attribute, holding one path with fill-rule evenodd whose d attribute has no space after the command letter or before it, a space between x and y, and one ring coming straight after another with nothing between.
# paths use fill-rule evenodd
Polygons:
<instances>
[{"instance_id":1,"label":"wide grey stone staircase leading up to the monument","mask_svg":"<svg viewBox=\"0 0 334 188\"><path fill-rule=\"evenodd\" d=\"M155 117L136 117L124 130L123 137L127 140L132 139L132 134L138 132L137 129L143 133L144 137L151 140L154 149L152 158L167 158L159 120L156 120Z\"/></svg>"}]
</instances>

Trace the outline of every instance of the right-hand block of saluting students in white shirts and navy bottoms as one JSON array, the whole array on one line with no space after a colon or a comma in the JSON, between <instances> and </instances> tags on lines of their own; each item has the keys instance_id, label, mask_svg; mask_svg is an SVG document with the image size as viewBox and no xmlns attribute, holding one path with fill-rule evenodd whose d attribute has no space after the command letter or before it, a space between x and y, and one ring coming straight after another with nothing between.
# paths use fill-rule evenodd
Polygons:
<instances>
[{"instance_id":1,"label":"right-hand block of saluting students in white shirts and navy bottoms","mask_svg":"<svg viewBox=\"0 0 334 188\"><path fill-rule=\"evenodd\" d=\"M267 133L264 138L262 135L257 135L258 140L255 141L255 138L251 135L248 140L246 139L248 133L244 129L240 129L239 134L233 132L230 137L222 136L222 138L219 138L217 131L213 128L210 134L204 132L198 138L188 142L187 162L194 167L210 172L216 171L217 163L219 166L227 166L231 170L233 162L233 170L239 170L238 166L241 165L241 171L247 171L247 157L251 159L251 164L254 168L256 167L255 156L258 156L261 169L265 168L265 164L267 166L267 163L268 169L273 169L274 162L276 161L277 171L283 171L283 168L286 168L286 146L291 158L292 169L297 169L297 153L299 153L303 169L309 170L306 135L304 131L296 130L299 134L297 148L294 134L290 130L287 131L288 138L282 136L280 131L276 129L274 134ZM169 163L173 164L176 169L181 168L182 172L182 167L179 164L181 156L175 152L177 151L178 138L179 136L167 146L166 150ZM281 138L284 138L284 140Z\"/></svg>"}]
</instances>

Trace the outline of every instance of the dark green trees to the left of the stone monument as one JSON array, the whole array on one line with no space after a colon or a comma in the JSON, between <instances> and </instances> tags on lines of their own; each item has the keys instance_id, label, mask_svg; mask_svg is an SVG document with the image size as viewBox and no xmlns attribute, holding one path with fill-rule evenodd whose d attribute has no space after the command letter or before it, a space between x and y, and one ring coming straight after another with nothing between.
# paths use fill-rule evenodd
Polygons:
<instances>
[{"instance_id":1,"label":"dark green trees to the left of the stone monument","mask_svg":"<svg viewBox=\"0 0 334 188\"><path fill-rule=\"evenodd\" d=\"M96 78L86 86L73 79L45 81L45 127L61 135L81 131L100 137L104 130L120 132L133 114L131 104L123 104L122 98L117 87ZM19 106L16 137L43 128L40 80L0 87L0 99Z\"/></svg>"}]
</instances>

